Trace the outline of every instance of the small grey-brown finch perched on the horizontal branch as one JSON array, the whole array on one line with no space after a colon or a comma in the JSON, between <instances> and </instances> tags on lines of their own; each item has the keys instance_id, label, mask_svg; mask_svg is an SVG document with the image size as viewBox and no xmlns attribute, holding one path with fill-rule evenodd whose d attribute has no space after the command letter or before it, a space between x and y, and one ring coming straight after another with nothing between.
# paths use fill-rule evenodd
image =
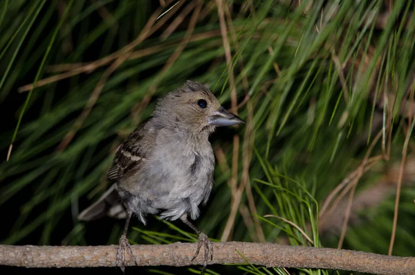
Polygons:
<instances>
[{"instance_id":1,"label":"small grey-brown finch perched on the horizontal branch","mask_svg":"<svg viewBox=\"0 0 415 275\"><path fill-rule=\"evenodd\" d=\"M160 98L151 117L120 144L107 173L114 184L78 218L107 214L126 219L116 256L122 272L126 250L135 259L127 240L132 215L145 225L146 215L158 214L181 220L196 232L199 242L192 260L204 247L203 274L208 259L213 260L213 245L189 218L199 218L199 205L208 202L212 190L215 159L209 136L216 127L241 123L208 87L187 80Z\"/></svg>"}]
</instances>

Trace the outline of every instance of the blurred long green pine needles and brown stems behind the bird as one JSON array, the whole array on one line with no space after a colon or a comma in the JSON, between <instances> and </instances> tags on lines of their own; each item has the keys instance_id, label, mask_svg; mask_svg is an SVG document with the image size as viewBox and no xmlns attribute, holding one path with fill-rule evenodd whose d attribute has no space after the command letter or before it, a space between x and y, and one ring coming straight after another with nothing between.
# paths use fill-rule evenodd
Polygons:
<instances>
[{"instance_id":1,"label":"blurred long green pine needles and brown stems behind the bird","mask_svg":"<svg viewBox=\"0 0 415 275\"><path fill-rule=\"evenodd\" d=\"M158 96L191 79L246 120L212 136L208 236L387 254L402 182L393 254L414 256L414 3L166 2L1 1L1 242L117 243L122 222L77 214ZM133 226L138 243L196 240ZM286 274L208 271L229 272Z\"/></svg>"}]
</instances>

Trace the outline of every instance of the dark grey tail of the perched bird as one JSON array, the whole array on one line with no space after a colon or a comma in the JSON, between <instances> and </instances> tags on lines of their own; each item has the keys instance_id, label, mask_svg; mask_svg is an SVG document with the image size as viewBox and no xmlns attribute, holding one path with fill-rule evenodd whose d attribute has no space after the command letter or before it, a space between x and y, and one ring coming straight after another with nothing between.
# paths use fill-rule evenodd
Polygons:
<instances>
[{"instance_id":1,"label":"dark grey tail of the perched bird","mask_svg":"<svg viewBox=\"0 0 415 275\"><path fill-rule=\"evenodd\" d=\"M111 218L125 219L127 211L120 202L117 186L113 184L104 194L78 215L78 220L90 221L108 215Z\"/></svg>"}]
</instances>

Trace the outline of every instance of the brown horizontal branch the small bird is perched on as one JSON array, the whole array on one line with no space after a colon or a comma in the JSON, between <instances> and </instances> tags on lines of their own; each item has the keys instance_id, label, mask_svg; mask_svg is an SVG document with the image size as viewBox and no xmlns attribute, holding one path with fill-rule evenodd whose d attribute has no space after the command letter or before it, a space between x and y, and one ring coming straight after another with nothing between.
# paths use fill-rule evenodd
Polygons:
<instances>
[{"instance_id":1,"label":"brown horizontal branch the small bird is perched on","mask_svg":"<svg viewBox=\"0 0 415 275\"><path fill-rule=\"evenodd\" d=\"M196 243L133 245L140 266L188 266L203 264L199 255L191 261ZM18 267L113 267L117 246L51 247L0 245L0 265ZM342 269L372 274L415 274L414 257L397 257L331 248L294 247L273 243L215 242L214 258L208 264L246 263L266 267ZM127 265L133 260L127 258Z\"/></svg>"}]
</instances>

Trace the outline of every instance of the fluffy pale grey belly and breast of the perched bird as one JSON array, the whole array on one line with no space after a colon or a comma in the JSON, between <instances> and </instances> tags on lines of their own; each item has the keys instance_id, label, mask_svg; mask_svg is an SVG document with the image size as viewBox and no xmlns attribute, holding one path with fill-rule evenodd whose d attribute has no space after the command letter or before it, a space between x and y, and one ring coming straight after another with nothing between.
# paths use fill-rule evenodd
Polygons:
<instances>
[{"instance_id":1,"label":"fluffy pale grey belly and breast of the perched bird","mask_svg":"<svg viewBox=\"0 0 415 275\"><path fill-rule=\"evenodd\" d=\"M133 193L127 207L139 217L161 211L160 217L168 220L185 213L196 219L199 204L208 200L212 190L213 171L213 152L156 155L143 163L134 181L122 184Z\"/></svg>"}]
</instances>

